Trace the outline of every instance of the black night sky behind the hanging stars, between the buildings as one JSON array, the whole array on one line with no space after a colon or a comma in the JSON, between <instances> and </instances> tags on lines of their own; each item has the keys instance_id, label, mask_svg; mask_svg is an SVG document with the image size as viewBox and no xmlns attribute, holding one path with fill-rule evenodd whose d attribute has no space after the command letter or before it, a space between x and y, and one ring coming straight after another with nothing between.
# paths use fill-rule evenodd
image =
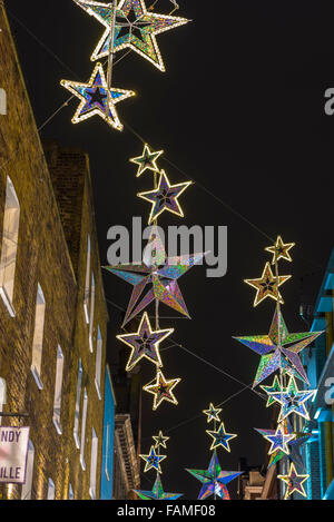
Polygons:
<instances>
[{"instance_id":1,"label":"black night sky behind the hanging stars, between the buildings","mask_svg":"<svg viewBox=\"0 0 334 522\"><path fill-rule=\"evenodd\" d=\"M114 86L138 93L119 104L118 114L207 189L195 184L183 195L186 218L165 213L160 224L228 226L227 275L209 279L204 267L193 268L180 279L193 321L166 319L161 326L174 326L174 338L187 349L249 384L258 356L232 336L267 333L272 321L274 302L266 299L253 308L255 290L243 283L246 277L258 277L269 259L264 252L269 245L265 234L274 238L282 234L286 242L296 243L294 263L281 265L282 274L294 276L282 287L291 332L305 329L298 315L301 295L316 297L333 246L334 117L324 114L324 91L334 87L334 6L321 0L179 3L179 16L194 22L157 37L167 72L135 53L115 68ZM155 11L167 13L170 6L168 0L159 0ZM89 57L101 26L71 0L10 0L7 7L40 126L69 97L59 86L60 79L89 78L94 67ZM100 256L106 264L108 228L130 226L132 216L146 218L149 205L136 194L150 187L151 179L136 179L135 166L128 162L141 152L138 138L128 130L109 129L97 117L71 125L77 105L73 100L61 110L41 137L89 152ZM185 180L180 171L164 161L160 165L173 183ZM303 287L301 278L306 275ZM105 275L105 283L107 298L125 307L130 285L111 275ZM170 315L166 307L161 313ZM110 321L115 335L120 315L111 306ZM109 346L112 349L110 339ZM163 463L165 490L195 499L200 484L183 469L206 469L209 462L210 437L200 412L209 402L225 401L242 385L178 347L163 355L166 376L183 377L176 388L179 406L165 403L151 412L151 395L145 394L143 451L148 453L147 437L159 429L170 430L168 461ZM149 364L144 372L150 381ZM198 418L173 430L196 415ZM240 456L247 456L250 464L264 462L264 441L253 427L268 427L269 417L271 411L250 391L224 405L226 431L238 433L230 442L230 454L219 451L225 470L237 469ZM154 473L147 479L154 481ZM147 479L143 477L144 489L150 489Z\"/></svg>"}]
</instances>

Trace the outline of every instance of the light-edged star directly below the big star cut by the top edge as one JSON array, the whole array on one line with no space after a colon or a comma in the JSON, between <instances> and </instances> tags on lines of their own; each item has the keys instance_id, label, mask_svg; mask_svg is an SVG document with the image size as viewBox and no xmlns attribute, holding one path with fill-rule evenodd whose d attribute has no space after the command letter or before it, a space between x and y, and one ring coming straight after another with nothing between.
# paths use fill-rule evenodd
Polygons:
<instances>
[{"instance_id":1,"label":"light-edged star directly below the big star cut by the top edge","mask_svg":"<svg viewBox=\"0 0 334 522\"><path fill-rule=\"evenodd\" d=\"M81 100L72 118L73 124L79 124L97 115L107 121L110 127L114 127L116 130L122 130L124 127L117 116L115 106L119 101L135 96L135 92L131 90L115 89L112 87L108 104L108 86L101 63L96 65L88 83L79 83L69 80L61 80L60 83ZM109 107L107 108L107 106Z\"/></svg>"}]
</instances>

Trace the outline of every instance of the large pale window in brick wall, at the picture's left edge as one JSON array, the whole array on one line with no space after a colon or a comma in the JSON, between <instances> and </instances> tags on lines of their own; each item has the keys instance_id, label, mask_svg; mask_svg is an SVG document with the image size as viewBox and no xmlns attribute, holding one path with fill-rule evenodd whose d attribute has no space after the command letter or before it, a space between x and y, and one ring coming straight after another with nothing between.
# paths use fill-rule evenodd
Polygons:
<instances>
[{"instance_id":1,"label":"large pale window in brick wall, at the picture's left edge","mask_svg":"<svg viewBox=\"0 0 334 522\"><path fill-rule=\"evenodd\" d=\"M20 204L9 177L7 177L6 204L3 215L2 249L0 260L0 295L11 317L17 252L19 239Z\"/></svg>"}]
</instances>

